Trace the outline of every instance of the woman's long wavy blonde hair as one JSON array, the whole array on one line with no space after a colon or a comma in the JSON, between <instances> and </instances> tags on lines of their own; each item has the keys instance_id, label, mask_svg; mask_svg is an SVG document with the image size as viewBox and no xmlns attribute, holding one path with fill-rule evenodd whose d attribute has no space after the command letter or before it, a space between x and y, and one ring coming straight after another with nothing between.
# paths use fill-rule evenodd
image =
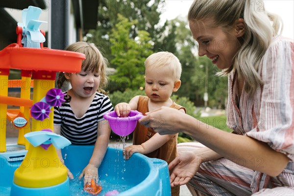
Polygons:
<instances>
[{"instance_id":1,"label":"woman's long wavy blonde hair","mask_svg":"<svg viewBox=\"0 0 294 196\"><path fill-rule=\"evenodd\" d=\"M258 69L270 46L272 37L282 31L283 23L277 15L267 12L262 0L195 0L188 13L189 22L213 19L214 25L231 28L237 19L244 19L245 34L238 41L241 48L233 66L218 75L237 71L245 78L245 91L253 95L262 84Z\"/></svg>"}]
</instances>

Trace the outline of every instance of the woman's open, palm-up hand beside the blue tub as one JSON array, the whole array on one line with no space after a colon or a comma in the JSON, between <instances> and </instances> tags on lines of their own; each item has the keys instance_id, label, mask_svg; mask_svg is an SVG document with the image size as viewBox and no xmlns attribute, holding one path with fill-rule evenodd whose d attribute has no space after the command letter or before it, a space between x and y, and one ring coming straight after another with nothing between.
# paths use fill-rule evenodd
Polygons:
<instances>
[{"instance_id":1,"label":"woman's open, palm-up hand beside the blue tub","mask_svg":"<svg viewBox=\"0 0 294 196\"><path fill-rule=\"evenodd\" d=\"M187 184L191 180L202 163L198 158L194 152L187 151L178 155L169 164L169 170L172 172L170 176L172 187Z\"/></svg>"}]
</instances>

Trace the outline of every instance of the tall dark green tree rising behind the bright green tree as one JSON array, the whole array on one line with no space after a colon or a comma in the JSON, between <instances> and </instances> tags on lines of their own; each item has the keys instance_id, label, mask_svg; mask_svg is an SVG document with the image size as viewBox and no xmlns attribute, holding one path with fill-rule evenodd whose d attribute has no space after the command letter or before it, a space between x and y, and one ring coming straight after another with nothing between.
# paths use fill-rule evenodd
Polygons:
<instances>
[{"instance_id":1,"label":"tall dark green tree rising behind the bright green tree","mask_svg":"<svg viewBox=\"0 0 294 196\"><path fill-rule=\"evenodd\" d=\"M166 24L161 26L158 23L159 16L163 13L160 8L165 3L164 0L100 0L99 3L97 29L90 30L85 39L100 46L107 59L114 58L109 35L119 22L118 14L129 21L137 21L129 28L131 38L135 40L139 31L144 30L149 33L154 51L158 51L162 46Z\"/></svg>"}]
</instances>

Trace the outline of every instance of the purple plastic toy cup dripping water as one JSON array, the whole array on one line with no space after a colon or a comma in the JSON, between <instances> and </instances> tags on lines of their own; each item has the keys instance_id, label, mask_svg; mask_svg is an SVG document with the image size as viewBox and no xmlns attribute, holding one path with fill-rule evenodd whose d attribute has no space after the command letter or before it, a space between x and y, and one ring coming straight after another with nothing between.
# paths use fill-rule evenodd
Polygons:
<instances>
[{"instance_id":1,"label":"purple plastic toy cup dripping water","mask_svg":"<svg viewBox=\"0 0 294 196\"><path fill-rule=\"evenodd\" d=\"M137 121L143 117L141 112L131 110L128 117L118 117L115 111L107 112L103 115L109 122L112 131L120 136L127 136L132 133L137 125Z\"/></svg>"}]
</instances>

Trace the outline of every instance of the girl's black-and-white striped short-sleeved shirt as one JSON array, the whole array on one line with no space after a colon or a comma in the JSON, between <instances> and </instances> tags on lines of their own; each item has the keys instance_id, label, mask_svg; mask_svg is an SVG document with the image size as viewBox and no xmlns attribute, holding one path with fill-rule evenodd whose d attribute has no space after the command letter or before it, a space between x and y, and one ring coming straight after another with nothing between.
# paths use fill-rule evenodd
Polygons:
<instances>
[{"instance_id":1,"label":"girl's black-and-white striped short-sleeved shirt","mask_svg":"<svg viewBox=\"0 0 294 196\"><path fill-rule=\"evenodd\" d=\"M98 122L103 115L112 111L110 99L96 93L87 112L76 118L69 102L54 107L54 124L61 125L60 135L64 136L75 145L94 145L97 139Z\"/></svg>"}]
</instances>

